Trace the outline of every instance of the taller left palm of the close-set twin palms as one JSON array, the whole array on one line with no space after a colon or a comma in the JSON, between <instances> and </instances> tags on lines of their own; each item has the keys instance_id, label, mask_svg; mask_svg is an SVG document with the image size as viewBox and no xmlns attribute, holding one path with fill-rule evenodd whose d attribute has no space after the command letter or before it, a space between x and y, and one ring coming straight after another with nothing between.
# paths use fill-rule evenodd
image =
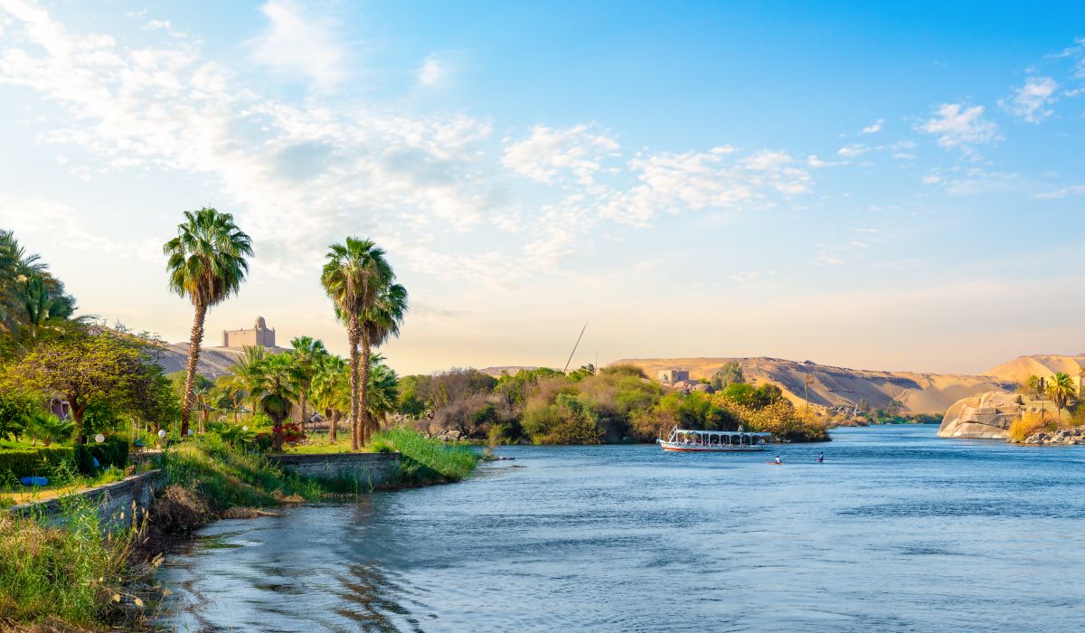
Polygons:
<instances>
[{"instance_id":1,"label":"taller left palm of the close-set twin palms","mask_svg":"<svg viewBox=\"0 0 1085 633\"><path fill-rule=\"evenodd\" d=\"M320 283L335 304L335 316L346 326L350 347L350 450L357 451L361 432L359 409L368 379L358 366L358 344L363 338L361 319L372 306L379 289L390 284L395 275L384 259L384 251L372 240L347 238L342 244L329 246L326 257ZM368 349L363 356L368 365Z\"/></svg>"}]
</instances>

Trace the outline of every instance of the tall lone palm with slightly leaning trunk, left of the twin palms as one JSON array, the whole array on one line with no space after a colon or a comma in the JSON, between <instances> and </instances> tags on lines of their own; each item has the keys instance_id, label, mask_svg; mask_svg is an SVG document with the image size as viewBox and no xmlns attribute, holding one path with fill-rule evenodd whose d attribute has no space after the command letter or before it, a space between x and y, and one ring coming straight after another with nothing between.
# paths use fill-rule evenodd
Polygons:
<instances>
[{"instance_id":1,"label":"tall lone palm with slightly leaning trunk, left of the twin palms","mask_svg":"<svg viewBox=\"0 0 1085 633\"><path fill-rule=\"evenodd\" d=\"M186 211L177 237L163 246L168 255L169 289L188 296L195 308L189 338L189 367L181 401L181 434L189 430L192 384L200 359L207 308L238 292L248 273L245 257L253 254L252 240L233 224L233 216L204 207Z\"/></svg>"}]
</instances>

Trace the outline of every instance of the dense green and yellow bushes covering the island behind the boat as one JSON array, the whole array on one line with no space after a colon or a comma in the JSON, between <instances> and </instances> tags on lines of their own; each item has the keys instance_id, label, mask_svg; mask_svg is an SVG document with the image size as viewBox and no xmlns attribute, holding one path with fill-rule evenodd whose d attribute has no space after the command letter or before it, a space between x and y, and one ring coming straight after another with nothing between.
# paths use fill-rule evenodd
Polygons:
<instances>
[{"instance_id":1,"label":"dense green and yellow bushes covering the island behind the boat","mask_svg":"<svg viewBox=\"0 0 1085 633\"><path fill-rule=\"evenodd\" d=\"M779 388L733 382L717 393L666 391L633 366L587 365L567 376L523 369L499 378L452 369L400 380L399 418L431 434L490 443L651 442L672 427L768 431L825 441Z\"/></svg>"}]
</instances>

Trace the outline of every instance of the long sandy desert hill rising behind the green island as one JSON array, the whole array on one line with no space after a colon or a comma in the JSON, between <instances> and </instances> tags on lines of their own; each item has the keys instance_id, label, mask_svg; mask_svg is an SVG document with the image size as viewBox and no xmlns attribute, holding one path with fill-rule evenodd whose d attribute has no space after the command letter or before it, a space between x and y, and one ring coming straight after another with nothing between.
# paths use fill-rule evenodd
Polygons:
<instances>
[{"instance_id":1,"label":"long sandy desert hill rising behind the green island","mask_svg":"<svg viewBox=\"0 0 1085 633\"><path fill-rule=\"evenodd\" d=\"M810 405L855 406L865 400L879 408L896 400L903 405L902 412L910 414L941 414L961 398L1017 388L1012 380L997 376L848 369L782 358L627 358L615 360L614 365L636 365L653 379L664 369L685 369L695 380L711 379L732 360L742 367L746 382L771 382L795 405L804 402L803 381L807 374L812 379Z\"/></svg>"}]
</instances>

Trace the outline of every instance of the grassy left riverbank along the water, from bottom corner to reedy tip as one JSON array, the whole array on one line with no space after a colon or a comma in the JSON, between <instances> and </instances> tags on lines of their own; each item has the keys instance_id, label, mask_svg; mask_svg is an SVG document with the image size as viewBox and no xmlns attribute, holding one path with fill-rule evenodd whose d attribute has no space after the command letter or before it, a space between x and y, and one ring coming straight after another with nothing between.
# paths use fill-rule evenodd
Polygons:
<instances>
[{"instance_id":1,"label":"grassy left riverbank along the water, from bottom corner to reedy tip","mask_svg":"<svg viewBox=\"0 0 1085 633\"><path fill-rule=\"evenodd\" d=\"M400 455L385 489L459 481L478 460L408 430L378 435L374 450ZM131 528L104 533L98 508L79 494L60 497L63 526L3 512L0 629L148 628L165 595L154 570L163 553L193 530L265 516L266 508L357 498L375 488L357 479L302 477L215 435L169 448L161 468L164 486L146 518Z\"/></svg>"}]
</instances>

